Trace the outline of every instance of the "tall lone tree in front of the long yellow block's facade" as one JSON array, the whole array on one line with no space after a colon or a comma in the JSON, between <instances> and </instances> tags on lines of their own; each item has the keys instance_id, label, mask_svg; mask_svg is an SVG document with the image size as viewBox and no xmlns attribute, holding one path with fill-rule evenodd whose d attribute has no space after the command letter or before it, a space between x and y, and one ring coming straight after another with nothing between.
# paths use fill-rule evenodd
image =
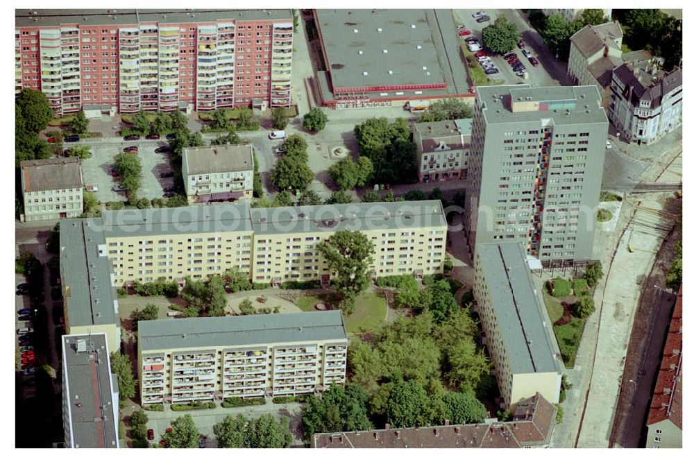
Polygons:
<instances>
[{"instance_id":1,"label":"tall lone tree in front of the long yellow block's facade","mask_svg":"<svg viewBox=\"0 0 694 462\"><path fill-rule=\"evenodd\" d=\"M335 291L346 298L357 296L369 285L369 266L373 263L373 243L359 231L341 230L327 241L321 241L318 250L337 275L332 279Z\"/></svg>"}]
</instances>

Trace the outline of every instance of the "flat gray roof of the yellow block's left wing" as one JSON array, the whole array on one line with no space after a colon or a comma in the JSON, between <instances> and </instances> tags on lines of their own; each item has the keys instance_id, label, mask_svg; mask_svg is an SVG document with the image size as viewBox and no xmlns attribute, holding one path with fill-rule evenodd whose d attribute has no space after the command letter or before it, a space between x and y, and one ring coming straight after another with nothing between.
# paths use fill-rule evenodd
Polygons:
<instances>
[{"instance_id":1,"label":"flat gray roof of the yellow block's left wing","mask_svg":"<svg viewBox=\"0 0 694 462\"><path fill-rule=\"evenodd\" d=\"M68 323L119 325L111 264L98 246L105 243L103 231L89 220L60 221L60 274L70 288Z\"/></svg>"}]
</instances>

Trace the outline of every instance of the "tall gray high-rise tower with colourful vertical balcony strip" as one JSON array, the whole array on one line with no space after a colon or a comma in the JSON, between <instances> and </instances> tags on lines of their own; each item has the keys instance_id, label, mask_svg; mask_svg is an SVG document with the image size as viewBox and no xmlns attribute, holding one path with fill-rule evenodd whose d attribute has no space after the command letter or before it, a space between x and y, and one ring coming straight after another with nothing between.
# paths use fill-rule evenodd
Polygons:
<instances>
[{"instance_id":1,"label":"tall gray high-rise tower with colourful vertical balcony strip","mask_svg":"<svg viewBox=\"0 0 694 462\"><path fill-rule=\"evenodd\" d=\"M595 85L478 88L464 214L471 253L518 241L545 265L591 259L607 128Z\"/></svg>"}]
</instances>

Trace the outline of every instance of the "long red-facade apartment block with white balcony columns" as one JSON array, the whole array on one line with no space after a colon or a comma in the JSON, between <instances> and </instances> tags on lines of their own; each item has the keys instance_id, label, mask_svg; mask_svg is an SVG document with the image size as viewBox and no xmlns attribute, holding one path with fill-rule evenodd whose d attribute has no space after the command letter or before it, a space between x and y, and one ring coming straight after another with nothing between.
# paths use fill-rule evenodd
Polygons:
<instances>
[{"instance_id":1,"label":"long red-facade apartment block with white balcony columns","mask_svg":"<svg viewBox=\"0 0 694 462\"><path fill-rule=\"evenodd\" d=\"M291 102L291 10L15 10L15 94L56 114Z\"/></svg>"}]
</instances>

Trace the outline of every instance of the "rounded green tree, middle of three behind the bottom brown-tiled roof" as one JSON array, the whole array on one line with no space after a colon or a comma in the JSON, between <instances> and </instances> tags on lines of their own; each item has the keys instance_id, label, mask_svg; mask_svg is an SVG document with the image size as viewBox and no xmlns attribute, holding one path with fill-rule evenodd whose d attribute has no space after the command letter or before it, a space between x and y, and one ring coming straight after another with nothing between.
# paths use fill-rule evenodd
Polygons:
<instances>
[{"instance_id":1,"label":"rounded green tree, middle of three behind the bottom brown-tiled roof","mask_svg":"<svg viewBox=\"0 0 694 462\"><path fill-rule=\"evenodd\" d=\"M424 427L430 424L426 418L428 396L419 382L398 381L388 397L387 422L393 427Z\"/></svg>"}]
</instances>

